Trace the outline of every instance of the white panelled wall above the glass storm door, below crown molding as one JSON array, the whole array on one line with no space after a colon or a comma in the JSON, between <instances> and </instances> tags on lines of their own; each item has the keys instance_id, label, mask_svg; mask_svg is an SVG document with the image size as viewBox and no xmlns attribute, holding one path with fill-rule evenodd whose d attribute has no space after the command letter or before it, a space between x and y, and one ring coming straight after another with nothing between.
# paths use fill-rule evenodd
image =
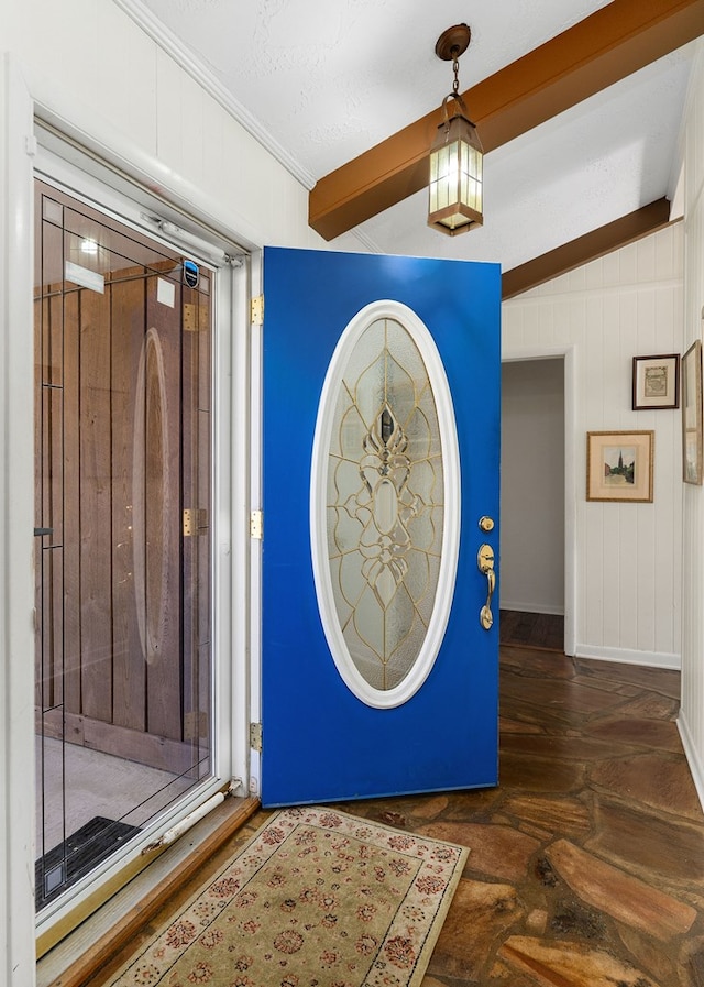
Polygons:
<instances>
[{"instance_id":1,"label":"white panelled wall above the glass storm door, below crown molding","mask_svg":"<svg viewBox=\"0 0 704 987\"><path fill-rule=\"evenodd\" d=\"M113 0L6 4L0 46L41 116L248 244L320 246L308 194Z\"/></svg>"}]
</instances>

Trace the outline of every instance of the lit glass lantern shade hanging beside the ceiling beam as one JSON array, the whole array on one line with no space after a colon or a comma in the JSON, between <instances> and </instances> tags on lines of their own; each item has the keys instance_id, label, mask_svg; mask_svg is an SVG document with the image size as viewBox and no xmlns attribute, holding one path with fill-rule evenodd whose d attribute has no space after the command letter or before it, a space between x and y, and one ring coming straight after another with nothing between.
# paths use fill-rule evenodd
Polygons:
<instances>
[{"instance_id":1,"label":"lit glass lantern shade hanging beside the ceiling beam","mask_svg":"<svg viewBox=\"0 0 704 987\"><path fill-rule=\"evenodd\" d=\"M429 227L454 237L482 226L483 156L476 129L465 117L440 124L430 149Z\"/></svg>"}]
</instances>

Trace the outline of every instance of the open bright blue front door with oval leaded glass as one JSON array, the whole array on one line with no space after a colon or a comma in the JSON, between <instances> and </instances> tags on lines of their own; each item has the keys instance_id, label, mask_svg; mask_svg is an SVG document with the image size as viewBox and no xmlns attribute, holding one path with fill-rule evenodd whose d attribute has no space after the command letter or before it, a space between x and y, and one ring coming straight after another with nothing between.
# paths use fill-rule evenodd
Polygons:
<instances>
[{"instance_id":1,"label":"open bright blue front door with oval leaded glass","mask_svg":"<svg viewBox=\"0 0 704 987\"><path fill-rule=\"evenodd\" d=\"M495 785L499 270L266 249L264 290L263 802Z\"/></svg>"}]
</instances>

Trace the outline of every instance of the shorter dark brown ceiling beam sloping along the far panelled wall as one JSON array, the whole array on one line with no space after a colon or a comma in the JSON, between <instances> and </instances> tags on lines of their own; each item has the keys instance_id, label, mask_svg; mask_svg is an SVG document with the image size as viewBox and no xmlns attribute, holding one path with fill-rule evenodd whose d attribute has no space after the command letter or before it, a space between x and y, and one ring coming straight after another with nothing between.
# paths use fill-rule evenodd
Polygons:
<instances>
[{"instance_id":1,"label":"shorter dark brown ceiling beam sloping along the far panelled wall","mask_svg":"<svg viewBox=\"0 0 704 987\"><path fill-rule=\"evenodd\" d=\"M642 206L635 212L622 216L620 219L592 230L570 243L563 243L526 264L505 271L502 275L502 300L505 301L560 274L574 271L582 264L588 264L590 261L613 253L635 240L640 240L641 237L661 230L669 222L669 199L657 199L648 206Z\"/></svg>"}]
</instances>

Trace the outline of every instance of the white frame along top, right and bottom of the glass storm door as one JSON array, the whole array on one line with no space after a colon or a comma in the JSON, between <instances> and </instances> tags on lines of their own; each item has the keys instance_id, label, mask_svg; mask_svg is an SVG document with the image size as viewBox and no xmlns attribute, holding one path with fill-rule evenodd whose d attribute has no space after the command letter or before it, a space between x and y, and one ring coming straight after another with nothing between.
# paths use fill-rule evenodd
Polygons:
<instances>
[{"instance_id":1,"label":"white frame along top, right and bottom of the glass storm door","mask_svg":"<svg viewBox=\"0 0 704 987\"><path fill-rule=\"evenodd\" d=\"M44 139L43 133L41 138ZM50 143L55 144L51 141ZM59 147L59 152L61 150ZM84 163L81 160L80 164ZM108 210L108 213L117 213L119 218L141 226L150 235L164 239L151 220L144 221L144 213L141 212L143 205L134 202L132 198L125 198L122 189L116 190L105 184L100 165L97 166L95 174L87 174L79 171L75 163L57 156L55 150L50 151L40 146L35 158L35 174L42 179L56 182L58 187L68 194L75 193L81 198L87 197L98 208ZM150 210L150 215L152 211L155 210ZM178 243L172 245L178 249ZM186 249L190 250L190 246ZM191 255L195 260L209 260L207 248L196 244L193 250ZM202 251L202 256L199 256L198 250ZM215 754L212 777L189 790L174 807L161 813L158 820L144 826L140 838L133 841L123 854L109 858L96 867L72 889L67 898L50 903L42 911L37 922L37 935L42 943L53 939L51 930L57 922L65 923L67 911L80 908L84 900L92 896L96 880L109 882L120 880L119 875L123 868L141 858L144 845L158 838L164 830L173 826L187 813L199 809L206 799L221 790L223 786L228 786L232 779L235 779L232 785L235 794L245 796L249 790L245 743L249 712L242 668L248 654L244 643L248 633L248 607L244 605L248 588L244 555L246 545L239 537L241 526L233 524L235 501L238 496L241 498L244 492L241 481L240 490L233 490L235 478L239 480L241 472L244 472L241 464L237 463L235 457L245 454L245 448L240 445L234 432L235 423L246 420L246 415L242 415L242 407L246 394L244 382L248 368L246 360L243 360L241 354L241 349L246 347L248 335L242 331L242 325L238 325L241 319L237 317L238 308L233 305L233 300L237 303L249 290L245 259L243 257L235 267L221 266L216 283L217 294L213 299L216 331L212 354L216 373L213 374L211 626L213 682L217 683L217 690L212 697ZM241 306L239 311L242 311ZM237 386L238 382L240 386ZM235 468L235 463L239 468ZM240 597L238 594L243 595Z\"/></svg>"}]
</instances>

